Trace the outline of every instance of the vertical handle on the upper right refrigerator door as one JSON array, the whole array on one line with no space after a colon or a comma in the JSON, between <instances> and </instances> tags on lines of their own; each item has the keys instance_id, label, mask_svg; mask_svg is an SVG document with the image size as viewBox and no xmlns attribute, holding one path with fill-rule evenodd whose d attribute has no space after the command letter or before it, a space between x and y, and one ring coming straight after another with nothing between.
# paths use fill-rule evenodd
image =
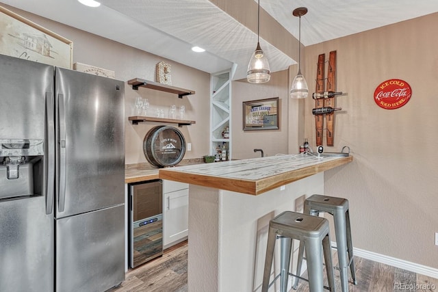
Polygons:
<instances>
[{"instance_id":1,"label":"vertical handle on the upper right refrigerator door","mask_svg":"<svg viewBox=\"0 0 438 292\"><path fill-rule=\"evenodd\" d=\"M60 178L59 178L59 195L58 195L58 212L64 212L66 201L66 119L65 119L65 106L64 106L64 94L58 94L58 115L59 115L59 149L60 149Z\"/></svg>"}]
</instances>

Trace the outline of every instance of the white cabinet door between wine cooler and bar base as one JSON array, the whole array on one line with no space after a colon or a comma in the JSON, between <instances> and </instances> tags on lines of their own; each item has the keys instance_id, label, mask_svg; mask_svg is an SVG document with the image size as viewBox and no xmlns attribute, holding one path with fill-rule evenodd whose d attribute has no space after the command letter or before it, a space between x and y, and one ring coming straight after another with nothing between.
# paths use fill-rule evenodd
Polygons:
<instances>
[{"instance_id":1,"label":"white cabinet door between wine cooler and bar base","mask_svg":"<svg viewBox=\"0 0 438 292\"><path fill-rule=\"evenodd\" d=\"M164 194L163 245L188 236L189 189L181 189Z\"/></svg>"}]
</instances>

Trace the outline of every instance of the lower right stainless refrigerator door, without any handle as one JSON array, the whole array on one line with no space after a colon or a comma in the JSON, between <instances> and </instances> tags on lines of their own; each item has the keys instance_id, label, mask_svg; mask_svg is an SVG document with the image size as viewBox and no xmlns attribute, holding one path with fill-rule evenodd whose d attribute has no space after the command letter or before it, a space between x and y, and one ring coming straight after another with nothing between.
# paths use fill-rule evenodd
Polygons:
<instances>
[{"instance_id":1,"label":"lower right stainless refrigerator door, without any handle","mask_svg":"<svg viewBox=\"0 0 438 292\"><path fill-rule=\"evenodd\" d=\"M125 205L56 220L56 291L101 292L125 280Z\"/></svg>"}]
</instances>

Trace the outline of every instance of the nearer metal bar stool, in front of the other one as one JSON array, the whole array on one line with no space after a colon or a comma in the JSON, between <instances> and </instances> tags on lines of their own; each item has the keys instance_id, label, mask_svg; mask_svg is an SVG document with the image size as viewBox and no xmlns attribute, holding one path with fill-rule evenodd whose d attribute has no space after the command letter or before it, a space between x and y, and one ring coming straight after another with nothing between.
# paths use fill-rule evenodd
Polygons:
<instances>
[{"instance_id":1,"label":"nearer metal bar stool, in front of the other one","mask_svg":"<svg viewBox=\"0 0 438 292\"><path fill-rule=\"evenodd\" d=\"M309 289L311 292L320 292L323 289L335 291L335 277L333 276L333 262L331 258L329 221L322 217L315 217L292 211L285 211L274 217L269 222L268 246L266 248L266 260L263 271L262 292L268 292L269 287L279 277L269 283L272 258L276 239L281 239L281 292L286 292L287 277L289 275L289 262L292 248L292 239L297 239L306 247L307 274L309 276ZM324 287L322 253L326 264L329 287ZM302 278L301 278L302 279ZM306 280L306 279L302 279Z\"/></svg>"}]
</instances>

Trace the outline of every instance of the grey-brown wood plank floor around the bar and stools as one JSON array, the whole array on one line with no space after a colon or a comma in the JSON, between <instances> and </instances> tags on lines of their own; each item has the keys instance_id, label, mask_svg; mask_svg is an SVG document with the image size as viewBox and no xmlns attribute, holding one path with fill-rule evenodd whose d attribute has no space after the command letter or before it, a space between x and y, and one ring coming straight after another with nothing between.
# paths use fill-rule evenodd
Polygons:
<instances>
[{"instance_id":1,"label":"grey-brown wood plank floor around the bar and stools","mask_svg":"<svg viewBox=\"0 0 438 292\"><path fill-rule=\"evenodd\" d=\"M125 282L118 288L110 289L109 292L186 292L188 291L187 253L188 244L187 241L183 241L165 250L162 257L156 258L136 269L129 270ZM336 257L333 256L335 263L337 263ZM350 283L350 292L438 292L438 279L435 278L359 257L355 257L355 265L358 284L353 285ZM341 291L339 271L335 271L335 282L336 291ZM274 291L273 288L270 290ZM296 291L309 291L307 282L300 281Z\"/></svg>"}]
</instances>

